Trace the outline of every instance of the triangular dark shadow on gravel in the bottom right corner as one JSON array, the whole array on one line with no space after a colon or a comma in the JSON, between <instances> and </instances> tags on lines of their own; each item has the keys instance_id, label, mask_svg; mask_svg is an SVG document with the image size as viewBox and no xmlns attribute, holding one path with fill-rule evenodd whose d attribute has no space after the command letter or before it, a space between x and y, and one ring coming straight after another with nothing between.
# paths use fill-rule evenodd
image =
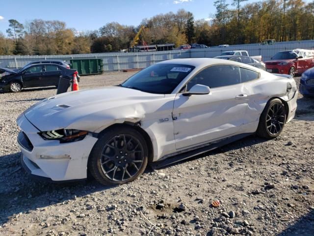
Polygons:
<instances>
[{"instance_id":1,"label":"triangular dark shadow on gravel in the bottom right corner","mask_svg":"<svg viewBox=\"0 0 314 236\"><path fill-rule=\"evenodd\" d=\"M313 236L314 235L314 210L300 217L293 225L282 231L277 236Z\"/></svg>"}]
</instances>

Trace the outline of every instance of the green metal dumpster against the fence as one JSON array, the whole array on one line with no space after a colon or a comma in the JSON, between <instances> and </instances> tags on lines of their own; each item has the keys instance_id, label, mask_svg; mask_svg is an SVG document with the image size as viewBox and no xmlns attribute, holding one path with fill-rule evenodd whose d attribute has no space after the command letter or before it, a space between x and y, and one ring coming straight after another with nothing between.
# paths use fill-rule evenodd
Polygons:
<instances>
[{"instance_id":1,"label":"green metal dumpster against the fence","mask_svg":"<svg viewBox=\"0 0 314 236\"><path fill-rule=\"evenodd\" d=\"M103 59L73 59L70 60L70 65L79 75L97 75L104 70Z\"/></svg>"}]
</instances>

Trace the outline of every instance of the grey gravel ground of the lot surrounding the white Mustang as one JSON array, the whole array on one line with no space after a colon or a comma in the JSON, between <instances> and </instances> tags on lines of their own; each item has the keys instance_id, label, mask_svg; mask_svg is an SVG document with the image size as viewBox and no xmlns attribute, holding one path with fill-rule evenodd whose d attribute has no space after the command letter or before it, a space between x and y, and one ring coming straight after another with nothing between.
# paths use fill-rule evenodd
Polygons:
<instances>
[{"instance_id":1,"label":"grey gravel ground of the lot surrounding the white Mustang","mask_svg":"<svg viewBox=\"0 0 314 236\"><path fill-rule=\"evenodd\" d=\"M81 77L79 87L133 73ZM314 100L299 95L295 119L274 140L251 136L106 187L37 182L21 168L15 120L55 92L0 94L0 235L314 235Z\"/></svg>"}]
</instances>

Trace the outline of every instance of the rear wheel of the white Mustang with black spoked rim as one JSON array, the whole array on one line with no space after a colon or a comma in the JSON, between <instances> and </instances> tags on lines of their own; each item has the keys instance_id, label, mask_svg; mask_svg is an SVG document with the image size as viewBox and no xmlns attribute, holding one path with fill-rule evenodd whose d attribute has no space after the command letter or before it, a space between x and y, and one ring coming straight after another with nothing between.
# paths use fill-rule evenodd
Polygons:
<instances>
[{"instance_id":1,"label":"rear wheel of the white Mustang with black spoked rim","mask_svg":"<svg viewBox=\"0 0 314 236\"><path fill-rule=\"evenodd\" d=\"M283 131L286 117L286 107L280 99L268 101L260 117L257 135L266 139L276 138Z\"/></svg>"}]
</instances>

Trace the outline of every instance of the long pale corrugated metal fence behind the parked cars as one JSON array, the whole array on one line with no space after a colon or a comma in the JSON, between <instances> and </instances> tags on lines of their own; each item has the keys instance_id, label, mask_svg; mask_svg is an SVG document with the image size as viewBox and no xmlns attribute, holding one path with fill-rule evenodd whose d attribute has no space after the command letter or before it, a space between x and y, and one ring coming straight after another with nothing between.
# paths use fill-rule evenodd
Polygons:
<instances>
[{"instance_id":1,"label":"long pale corrugated metal fence behind the parked cars","mask_svg":"<svg viewBox=\"0 0 314 236\"><path fill-rule=\"evenodd\" d=\"M49 55L49 56L0 56L0 67L19 68L32 60L59 59L103 59L104 71L144 68L156 62L177 58L212 58L219 56L223 51L247 50L250 56L262 55L262 59L269 60L279 51L296 48L314 50L314 40L278 42L274 45L241 44L230 47L202 48L189 50L173 50L163 52L141 53L95 53L77 55Z\"/></svg>"}]
</instances>

